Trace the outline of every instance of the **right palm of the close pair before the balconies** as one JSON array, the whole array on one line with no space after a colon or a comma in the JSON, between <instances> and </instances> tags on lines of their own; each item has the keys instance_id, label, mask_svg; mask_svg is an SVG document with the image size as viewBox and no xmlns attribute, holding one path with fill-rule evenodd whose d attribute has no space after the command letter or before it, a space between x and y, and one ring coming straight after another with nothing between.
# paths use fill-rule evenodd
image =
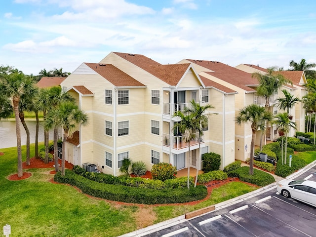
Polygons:
<instances>
[{"instance_id":1,"label":"right palm of the close pair before the balconies","mask_svg":"<svg viewBox=\"0 0 316 237\"><path fill-rule=\"evenodd\" d=\"M191 103L190 108L186 108L184 113L192 114L194 116L194 118L198 121L198 123L196 123L198 126L194 129L195 131L198 132L198 150L199 150L199 157L198 157L198 160L196 162L196 163L198 163L197 174L196 174L196 180L194 183L194 187L197 187L197 176L198 176L199 164L201 162L200 136L203 135L203 127L206 127L208 125L208 116L205 115L205 111L208 109L213 109L215 107L210 105L210 104L207 104L205 106L201 106L199 103L195 102L194 100L192 100L190 103Z\"/></svg>"}]
</instances>

